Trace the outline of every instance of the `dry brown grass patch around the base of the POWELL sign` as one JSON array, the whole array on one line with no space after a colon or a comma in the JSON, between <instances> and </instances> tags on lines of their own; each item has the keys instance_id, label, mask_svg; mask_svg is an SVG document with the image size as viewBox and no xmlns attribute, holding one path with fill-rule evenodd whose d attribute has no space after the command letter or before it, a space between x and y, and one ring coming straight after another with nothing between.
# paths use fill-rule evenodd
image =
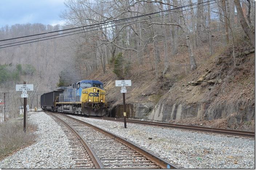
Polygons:
<instances>
[{"instance_id":1,"label":"dry brown grass patch around the base of the POWELL sign","mask_svg":"<svg viewBox=\"0 0 256 170\"><path fill-rule=\"evenodd\" d=\"M20 150L35 142L36 125L27 123L27 131L23 131L23 122L8 121L0 124L0 160L13 152Z\"/></svg>"}]
</instances>

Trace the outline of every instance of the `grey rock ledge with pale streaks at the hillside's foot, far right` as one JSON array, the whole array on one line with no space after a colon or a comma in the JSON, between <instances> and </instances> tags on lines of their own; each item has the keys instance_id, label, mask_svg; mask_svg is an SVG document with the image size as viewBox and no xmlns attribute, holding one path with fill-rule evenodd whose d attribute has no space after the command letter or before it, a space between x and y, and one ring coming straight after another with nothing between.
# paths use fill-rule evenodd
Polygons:
<instances>
[{"instance_id":1,"label":"grey rock ledge with pale streaks at the hillside's foot, far right","mask_svg":"<svg viewBox=\"0 0 256 170\"><path fill-rule=\"evenodd\" d=\"M254 118L254 108L247 107L247 109L237 113L239 104L217 104L211 106L208 102L201 102L196 104L185 103L169 103L162 100L155 106L148 119L153 121L168 122L171 120L180 120L190 117L204 118L206 120L213 120L221 117L228 117L228 123L239 123L241 116L244 121ZM243 113L242 113L243 112ZM233 116L232 116L233 115Z\"/></svg>"}]
</instances>

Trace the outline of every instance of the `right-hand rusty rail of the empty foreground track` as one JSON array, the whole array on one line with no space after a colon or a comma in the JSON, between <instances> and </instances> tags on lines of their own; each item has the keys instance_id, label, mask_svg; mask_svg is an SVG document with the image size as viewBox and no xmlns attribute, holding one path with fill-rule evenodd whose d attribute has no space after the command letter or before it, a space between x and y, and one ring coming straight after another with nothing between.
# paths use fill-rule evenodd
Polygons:
<instances>
[{"instance_id":1,"label":"right-hand rusty rail of the empty foreground track","mask_svg":"<svg viewBox=\"0 0 256 170\"><path fill-rule=\"evenodd\" d=\"M69 117L75 121L78 121L82 124L85 124L87 126L90 126L104 134L107 134L109 136L111 136L112 138L116 139L117 141L123 143L124 145L127 145L129 147L131 147L132 149L136 150L137 152L139 152L140 154L144 155L145 157L147 157L149 160L153 161L153 162L156 162L158 165L160 165L163 169L179 169L180 167L174 165L173 163L171 162L168 162L166 160L164 160L163 158L160 158L159 156L157 156L156 154L153 154L147 150L145 150L144 148L136 145L135 143L131 142L131 141L127 141L126 139L116 135L116 134L113 134L107 130L103 130L101 128L98 128L96 126L93 126L92 124L89 124L87 122L84 122L82 120L79 120L79 119L76 119L76 118L73 118L71 116L68 116L67 114L63 114L63 116L66 116L66 117Z\"/></svg>"}]
</instances>

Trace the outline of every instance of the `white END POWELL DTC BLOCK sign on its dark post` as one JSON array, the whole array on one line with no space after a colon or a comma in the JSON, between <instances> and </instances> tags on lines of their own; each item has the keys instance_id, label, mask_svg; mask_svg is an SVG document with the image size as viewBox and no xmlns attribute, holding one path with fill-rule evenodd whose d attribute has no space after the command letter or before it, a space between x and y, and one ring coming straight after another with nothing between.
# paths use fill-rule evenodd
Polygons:
<instances>
[{"instance_id":1,"label":"white END POWELL DTC BLOCK sign on its dark post","mask_svg":"<svg viewBox=\"0 0 256 170\"><path fill-rule=\"evenodd\" d=\"M24 113L24 124L23 124L23 130L26 133L26 112L27 112L27 91L33 91L34 85L33 84L26 84L24 81L23 84L16 84L16 91L22 91L21 97L24 98L24 106L23 106L23 113Z\"/></svg>"}]
</instances>

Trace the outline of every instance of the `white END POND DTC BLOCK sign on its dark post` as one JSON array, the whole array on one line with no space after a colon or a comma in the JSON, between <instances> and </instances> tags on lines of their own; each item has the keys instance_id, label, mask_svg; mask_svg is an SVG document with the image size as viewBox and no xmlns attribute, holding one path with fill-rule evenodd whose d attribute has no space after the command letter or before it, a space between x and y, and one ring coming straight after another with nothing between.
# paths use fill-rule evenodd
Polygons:
<instances>
[{"instance_id":1,"label":"white END POND DTC BLOCK sign on its dark post","mask_svg":"<svg viewBox=\"0 0 256 170\"><path fill-rule=\"evenodd\" d=\"M121 86L121 93L123 93L123 105L124 105L124 128L126 127L126 106L125 106L125 93L127 90L125 86L132 86L131 80L116 80L116 86Z\"/></svg>"}]
</instances>

